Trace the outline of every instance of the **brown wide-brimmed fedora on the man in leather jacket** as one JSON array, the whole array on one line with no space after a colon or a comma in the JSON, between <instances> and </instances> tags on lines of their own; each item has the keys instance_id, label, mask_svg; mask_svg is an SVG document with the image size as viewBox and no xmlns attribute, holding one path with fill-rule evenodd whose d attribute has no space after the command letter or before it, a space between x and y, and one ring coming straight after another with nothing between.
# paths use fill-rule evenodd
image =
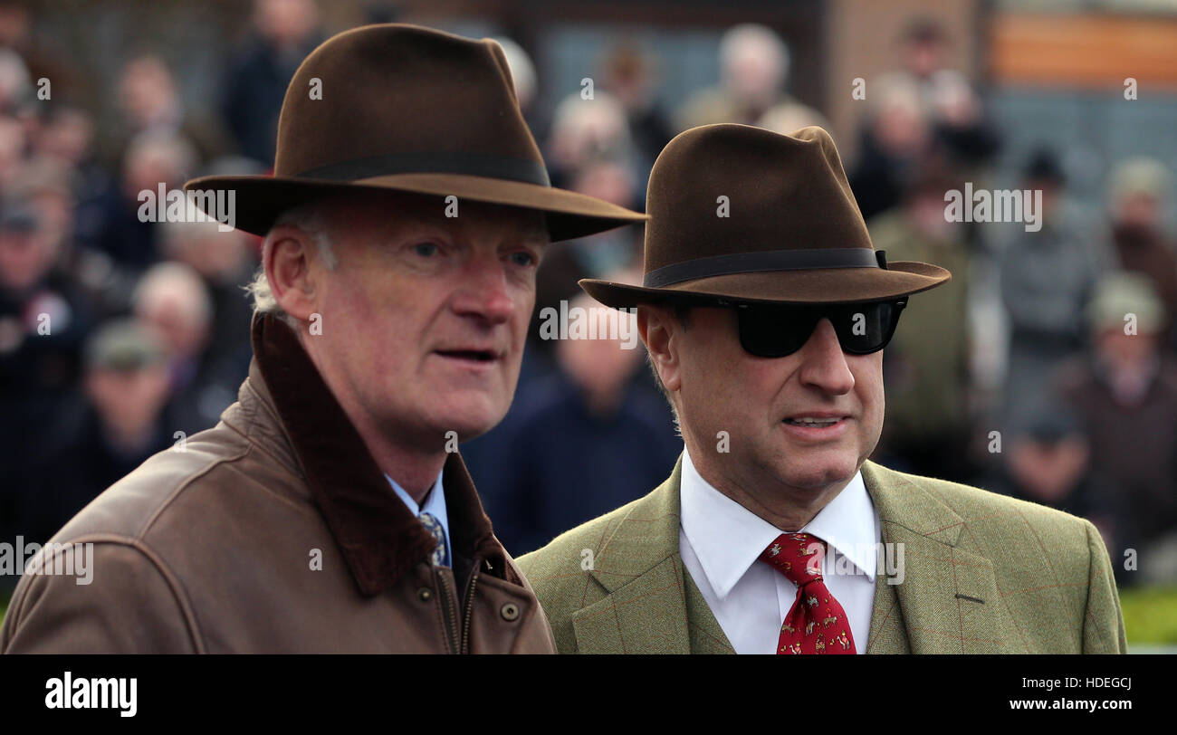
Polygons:
<instances>
[{"instance_id":1,"label":"brown wide-brimmed fedora on the man in leather jacket","mask_svg":"<svg viewBox=\"0 0 1177 735\"><path fill-rule=\"evenodd\" d=\"M272 176L184 185L235 191L233 225L259 235L282 211L355 187L540 211L552 240L646 219L552 188L501 46L404 24L346 31L302 61L282 101Z\"/></svg>"}]
</instances>

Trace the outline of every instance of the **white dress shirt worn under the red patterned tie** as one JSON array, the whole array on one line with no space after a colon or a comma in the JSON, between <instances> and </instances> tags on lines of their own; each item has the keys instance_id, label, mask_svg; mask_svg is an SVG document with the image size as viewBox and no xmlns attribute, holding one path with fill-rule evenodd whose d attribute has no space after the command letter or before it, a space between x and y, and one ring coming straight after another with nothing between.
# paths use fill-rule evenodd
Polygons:
<instances>
[{"instance_id":1,"label":"white dress shirt worn under the red patterned tie","mask_svg":"<svg viewBox=\"0 0 1177 735\"><path fill-rule=\"evenodd\" d=\"M880 534L862 472L800 532L827 543L823 579L846 612L855 650L864 653ZM777 653L797 586L758 557L782 533L699 476L684 448L678 534L683 564L736 653Z\"/></svg>"}]
</instances>

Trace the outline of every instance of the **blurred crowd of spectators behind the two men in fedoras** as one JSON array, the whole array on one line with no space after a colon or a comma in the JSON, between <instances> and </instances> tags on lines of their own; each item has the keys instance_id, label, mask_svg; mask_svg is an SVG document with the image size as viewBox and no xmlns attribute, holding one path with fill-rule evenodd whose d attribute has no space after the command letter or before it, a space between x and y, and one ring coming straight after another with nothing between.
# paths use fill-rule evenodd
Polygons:
<instances>
[{"instance_id":1,"label":"blurred crowd of spectators behind the two men in fedoras","mask_svg":"<svg viewBox=\"0 0 1177 735\"><path fill-rule=\"evenodd\" d=\"M141 191L201 174L265 173L278 112L327 35L313 0L258 0L222 59L220 99L185 107L161 54L121 67L121 119L38 96L48 74L36 19L0 2L0 530L44 541L151 454L213 426L251 356L242 286L259 240L208 222L144 222ZM385 20L386 18L381 18ZM829 128L790 95L790 53L742 25L716 49L713 86L659 103L650 49L618 41L586 69L591 95L541 105L543 67L503 44L553 183L641 208L650 167L678 132L743 122ZM1106 206L1068 198L1059 152L1024 161L1013 188L1043 192L1043 225L945 219L944 194L993 188L1002 131L946 68L932 21L904 32L895 68L867 78L857 138L839 140L875 246L949 268L918 294L884 354L886 423L873 459L1091 519L1122 584L1177 580L1177 250L1165 230L1171 172L1121 161ZM586 99L588 96L588 99ZM106 133L100 135L99 133ZM114 140L107 145L101 141ZM640 280L641 232L553 246L516 401L464 456L512 554L647 493L681 441L645 366L611 340L543 340L545 308L592 306L581 278ZM1165 550L1170 549L1170 550Z\"/></svg>"}]
</instances>

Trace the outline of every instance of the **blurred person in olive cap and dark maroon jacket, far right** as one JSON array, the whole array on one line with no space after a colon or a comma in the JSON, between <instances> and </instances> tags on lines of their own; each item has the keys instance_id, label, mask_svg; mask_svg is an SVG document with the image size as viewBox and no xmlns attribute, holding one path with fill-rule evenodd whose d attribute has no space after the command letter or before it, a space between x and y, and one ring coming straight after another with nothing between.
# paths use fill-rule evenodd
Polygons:
<instances>
[{"instance_id":1,"label":"blurred person in olive cap and dark maroon jacket, far right","mask_svg":"<svg viewBox=\"0 0 1177 735\"><path fill-rule=\"evenodd\" d=\"M1112 555L1137 549L1144 568L1146 549L1177 530L1177 366L1163 347L1164 305L1146 276L1113 272L1088 314L1093 350L1062 366L1053 389L1090 437L1091 474L1110 494L1097 500L1116 509Z\"/></svg>"}]
</instances>

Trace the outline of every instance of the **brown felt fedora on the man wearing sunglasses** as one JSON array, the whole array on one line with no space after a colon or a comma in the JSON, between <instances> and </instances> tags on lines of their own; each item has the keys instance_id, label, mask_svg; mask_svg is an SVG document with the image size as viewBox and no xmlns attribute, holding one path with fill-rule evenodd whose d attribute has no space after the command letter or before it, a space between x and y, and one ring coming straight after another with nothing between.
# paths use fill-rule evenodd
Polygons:
<instances>
[{"instance_id":1,"label":"brown felt fedora on the man wearing sunglasses","mask_svg":"<svg viewBox=\"0 0 1177 735\"><path fill-rule=\"evenodd\" d=\"M580 281L601 303L882 301L951 278L875 250L838 149L819 127L691 128L654 162L646 213L643 285Z\"/></svg>"}]
</instances>

